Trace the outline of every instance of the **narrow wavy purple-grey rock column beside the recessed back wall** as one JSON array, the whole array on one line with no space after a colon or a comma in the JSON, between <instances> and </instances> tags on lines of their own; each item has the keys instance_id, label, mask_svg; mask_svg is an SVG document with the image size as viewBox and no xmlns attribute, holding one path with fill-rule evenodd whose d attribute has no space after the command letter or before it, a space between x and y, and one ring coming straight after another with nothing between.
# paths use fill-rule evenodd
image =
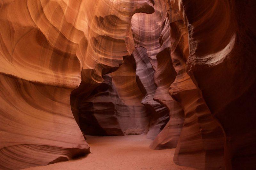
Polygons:
<instances>
[{"instance_id":1,"label":"narrow wavy purple-grey rock column beside the recessed back wall","mask_svg":"<svg viewBox=\"0 0 256 170\"><path fill-rule=\"evenodd\" d=\"M149 62L146 52L145 48L135 48L132 56L136 62L137 84L144 95L141 103L151 113L147 137L154 139L169 121L169 111L165 106L153 99L156 92L156 85L153 80L155 70Z\"/></svg>"}]
</instances>

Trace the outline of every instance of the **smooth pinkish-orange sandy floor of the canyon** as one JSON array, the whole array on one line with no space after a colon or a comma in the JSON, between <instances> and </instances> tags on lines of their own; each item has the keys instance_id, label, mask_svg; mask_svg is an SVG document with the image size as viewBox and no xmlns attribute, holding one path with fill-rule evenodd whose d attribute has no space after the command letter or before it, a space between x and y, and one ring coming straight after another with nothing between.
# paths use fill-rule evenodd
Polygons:
<instances>
[{"instance_id":1,"label":"smooth pinkish-orange sandy floor of the canyon","mask_svg":"<svg viewBox=\"0 0 256 170\"><path fill-rule=\"evenodd\" d=\"M152 140L146 135L130 135L115 137L87 136L91 154L79 159L59 162L47 166L28 168L30 170L187 170L193 169L175 165L172 161L175 149L152 150Z\"/></svg>"}]
</instances>

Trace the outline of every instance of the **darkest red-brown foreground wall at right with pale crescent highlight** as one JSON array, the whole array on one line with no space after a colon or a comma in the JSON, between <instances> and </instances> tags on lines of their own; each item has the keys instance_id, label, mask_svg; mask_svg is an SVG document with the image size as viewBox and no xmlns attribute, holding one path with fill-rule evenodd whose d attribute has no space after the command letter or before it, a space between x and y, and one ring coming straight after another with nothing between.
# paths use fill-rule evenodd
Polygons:
<instances>
[{"instance_id":1,"label":"darkest red-brown foreground wall at right with pale crescent highlight","mask_svg":"<svg viewBox=\"0 0 256 170\"><path fill-rule=\"evenodd\" d=\"M223 127L225 166L255 169L255 2L183 4L189 23L186 70Z\"/></svg>"}]
</instances>

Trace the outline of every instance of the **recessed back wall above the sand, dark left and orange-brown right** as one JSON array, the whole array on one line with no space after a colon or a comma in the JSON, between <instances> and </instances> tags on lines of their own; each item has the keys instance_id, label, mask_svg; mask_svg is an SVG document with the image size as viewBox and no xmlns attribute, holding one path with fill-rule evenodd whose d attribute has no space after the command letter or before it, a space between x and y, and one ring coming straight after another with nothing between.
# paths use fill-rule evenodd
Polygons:
<instances>
[{"instance_id":1,"label":"recessed back wall above the sand, dark left and orange-brown right","mask_svg":"<svg viewBox=\"0 0 256 170\"><path fill-rule=\"evenodd\" d=\"M148 132L151 112L141 104L143 94L136 82L134 58L125 57L118 70L102 78L103 83L79 107L79 122L84 134L138 135Z\"/></svg>"}]
</instances>

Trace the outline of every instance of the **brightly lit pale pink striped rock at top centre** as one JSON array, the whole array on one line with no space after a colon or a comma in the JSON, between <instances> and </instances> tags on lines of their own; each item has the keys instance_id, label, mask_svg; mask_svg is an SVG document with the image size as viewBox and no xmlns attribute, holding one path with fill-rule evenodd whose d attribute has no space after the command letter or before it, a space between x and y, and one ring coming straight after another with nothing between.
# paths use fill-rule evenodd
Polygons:
<instances>
[{"instance_id":1,"label":"brightly lit pale pink striped rock at top centre","mask_svg":"<svg viewBox=\"0 0 256 170\"><path fill-rule=\"evenodd\" d=\"M163 0L155 0L154 9L152 14L136 13L132 16L132 33L135 47L147 49L149 61L156 70L156 54L161 48L159 37L164 28L167 9Z\"/></svg>"}]
</instances>

